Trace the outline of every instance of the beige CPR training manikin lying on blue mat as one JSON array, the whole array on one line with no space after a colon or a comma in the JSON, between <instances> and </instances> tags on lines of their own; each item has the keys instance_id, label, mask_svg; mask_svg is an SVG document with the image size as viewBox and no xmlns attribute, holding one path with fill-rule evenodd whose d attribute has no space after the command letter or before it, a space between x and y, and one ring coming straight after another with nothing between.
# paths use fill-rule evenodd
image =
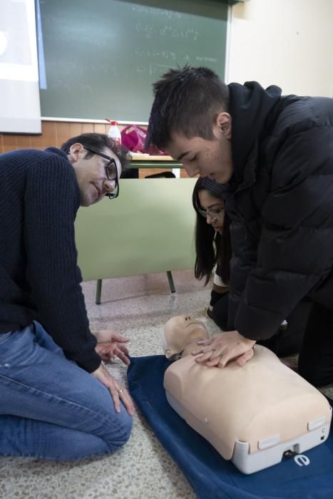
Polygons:
<instances>
[{"instance_id":1,"label":"beige CPR training manikin lying on blue mat","mask_svg":"<svg viewBox=\"0 0 333 499\"><path fill-rule=\"evenodd\" d=\"M207 367L190 355L198 348L193 340L208 337L203 323L173 317L164 332L165 355L181 355L165 371L168 402L243 473L327 439L332 417L327 399L272 351L255 345L245 366L232 361L223 369Z\"/></svg>"}]
</instances>

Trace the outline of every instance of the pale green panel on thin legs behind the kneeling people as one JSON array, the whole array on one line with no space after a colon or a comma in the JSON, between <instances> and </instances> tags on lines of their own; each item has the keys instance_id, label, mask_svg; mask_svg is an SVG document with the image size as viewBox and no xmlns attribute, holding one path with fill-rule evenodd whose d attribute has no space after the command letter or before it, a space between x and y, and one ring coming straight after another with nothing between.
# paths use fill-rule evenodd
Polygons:
<instances>
[{"instance_id":1,"label":"pale green panel on thin legs behind the kneeling people","mask_svg":"<svg viewBox=\"0 0 333 499\"><path fill-rule=\"evenodd\" d=\"M115 200L78 210L83 280L194 267L196 179L124 179Z\"/></svg>"}]
</instances>

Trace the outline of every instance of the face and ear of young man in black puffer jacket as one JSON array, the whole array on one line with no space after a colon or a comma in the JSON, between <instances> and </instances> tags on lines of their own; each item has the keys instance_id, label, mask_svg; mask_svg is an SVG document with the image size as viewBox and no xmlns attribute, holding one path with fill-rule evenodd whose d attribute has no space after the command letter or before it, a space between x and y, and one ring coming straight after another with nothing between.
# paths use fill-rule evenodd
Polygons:
<instances>
[{"instance_id":1,"label":"face and ear of young man in black puffer jacket","mask_svg":"<svg viewBox=\"0 0 333 499\"><path fill-rule=\"evenodd\" d=\"M229 182L232 175L231 116L217 115L212 127L213 140L201 137L185 138L173 133L166 150L175 160L183 163L190 177L199 174L216 182Z\"/></svg>"}]
</instances>

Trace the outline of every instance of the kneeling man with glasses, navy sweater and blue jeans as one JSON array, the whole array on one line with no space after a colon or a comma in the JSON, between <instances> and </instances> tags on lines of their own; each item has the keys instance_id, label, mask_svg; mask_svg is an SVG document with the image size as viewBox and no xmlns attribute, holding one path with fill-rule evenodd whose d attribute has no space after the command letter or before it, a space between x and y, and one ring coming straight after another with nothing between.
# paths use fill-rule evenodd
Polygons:
<instances>
[{"instance_id":1,"label":"kneeling man with glasses, navy sweater and blue jeans","mask_svg":"<svg viewBox=\"0 0 333 499\"><path fill-rule=\"evenodd\" d=\"M80 205L119 195L126 152L85 133L0 155L0 456L86 458L130 436L133 402L96 351L74 239Z\"/></svg>"}]
</instances>

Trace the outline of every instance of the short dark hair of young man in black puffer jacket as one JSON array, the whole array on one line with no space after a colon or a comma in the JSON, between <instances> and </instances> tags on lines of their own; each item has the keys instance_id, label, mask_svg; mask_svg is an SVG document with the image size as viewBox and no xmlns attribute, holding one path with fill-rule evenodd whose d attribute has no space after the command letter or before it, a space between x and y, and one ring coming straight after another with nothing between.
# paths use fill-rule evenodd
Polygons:
<instances>
[{"instance_id":1,"label":"short dark hair of young man in black puffer jacket","mask_svg":"<svg viewBox=\"0 0 333 499\"><path fill-rule=\"evenodd\" d=\"M164 149L173 132L186 138L214 138L215 118L229 104L229 88L214 71L190 66L170 69L153 88L146 149Z\"/></svg>"}]
</instances>

